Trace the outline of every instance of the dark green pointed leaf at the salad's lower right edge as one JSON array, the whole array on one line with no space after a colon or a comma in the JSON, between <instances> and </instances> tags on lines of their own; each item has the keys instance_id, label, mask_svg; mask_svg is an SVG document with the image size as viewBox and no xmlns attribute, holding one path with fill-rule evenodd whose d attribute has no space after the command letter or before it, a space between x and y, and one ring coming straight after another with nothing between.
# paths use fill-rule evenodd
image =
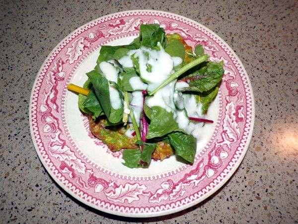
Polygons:
<instances>
[{"instance_id":1,"label":"dark green pointed leaf at the salad's lower right edge","mask_svg":"<svg viewBox=\"0 0 298 224\"><path fill-rule=\"evenodd\" d=\"M190 163L194 162L197 150L197 139L194 136L182 132L172 132L168 134L168 138L176 155Z\"/></svg>"}]
</instances>

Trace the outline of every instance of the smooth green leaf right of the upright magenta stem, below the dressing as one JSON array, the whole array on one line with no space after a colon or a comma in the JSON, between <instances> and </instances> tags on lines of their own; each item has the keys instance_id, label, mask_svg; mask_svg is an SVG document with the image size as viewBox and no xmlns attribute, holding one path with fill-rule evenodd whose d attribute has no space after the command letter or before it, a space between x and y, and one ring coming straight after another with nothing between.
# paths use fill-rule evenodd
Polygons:
<instances>
[{"instance_id":1,"label":"smooth green leaf right of the upright magenta stem, below the dressing","mask_svg":"<svg viewBox=\"0 0 298 224\"><path fill-rule=\"evenodd\" d=\"M178 124L173 117L173 112L167 112L164 108L158 106L151 109L151 122L146 138L160 137L178 130Z\"/></svg>"}]
</instances>

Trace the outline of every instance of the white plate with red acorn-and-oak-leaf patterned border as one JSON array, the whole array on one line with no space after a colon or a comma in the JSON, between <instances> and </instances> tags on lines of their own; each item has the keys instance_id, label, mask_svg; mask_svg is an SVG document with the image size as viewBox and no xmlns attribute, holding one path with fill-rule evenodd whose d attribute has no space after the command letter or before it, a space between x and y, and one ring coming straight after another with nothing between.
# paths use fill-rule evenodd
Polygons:
<instances>
[{"instance_id":1,"label":"white plate with red acorn-and-oak-leaf patterned border","mask_svg":"<svg viewBox=\"0 0 298 224\"><path fill-rule=\"evenodd\" d=\"M67 91L82 85L102 45L127 44L142 23L159 23L211 61L224 62L224 78L211 105L193 165L175 156L147 169L121 164L88 129ZM124 11L95 19L61 41L42 65L32 88L30 128L37 154L53 179L80 202L126 217L154 217L189 208L215 193L241 163L251 139L254 100L249 78L232 49L214 32L186 17L162 11Z\"/></svg>"}]
</instances>

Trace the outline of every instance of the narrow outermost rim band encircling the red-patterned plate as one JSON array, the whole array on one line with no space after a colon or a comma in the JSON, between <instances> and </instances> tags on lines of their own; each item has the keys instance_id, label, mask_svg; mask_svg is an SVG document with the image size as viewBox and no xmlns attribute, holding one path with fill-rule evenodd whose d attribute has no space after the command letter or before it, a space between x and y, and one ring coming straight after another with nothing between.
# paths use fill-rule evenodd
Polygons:
<instances>
[{"instance_id":1,"label":"narrow outermost rim band encircling the red-patterned plate","mask_svg":"<svg viewBox=\"0 0 298 224\"><path fill-rule=\"evenodd\" d=\"M84 26L86 26L89 23L95 22L99 19L103 19L106 17L110 17L110 16L114 16L114 15L119 15L119 14L125 14L125 13L133 13L133 12L153 12L153 13L166 13L166 14L170 14L173 16L177 16L180 17L182 19L191 21L195 24L198 24L200 26L202 26L204 29L206 29L208 32L210 32L211 34L213 34L216 38L219 38L227 47L228 50L231 51L231 53L233 54L233 56L235 57L235 59L239 62L240 67L243 69L243 73L245 75L245 78L247 79L247 84L250 88L250 94L251 94L251 129L247 135L247 144L245 144L245 147L243 148L243 152L240 155L239 159L237 160L236 164L232 167L232 170L223 178L223 180L216 185L212 190L210 190L207 194L205 194L203 197L200 197L199 200L194 200L188 204L179 206L177 208L172 208L172 209L167 209L165 211L158 211L158 212L152 212L152 213L138 213L138 214L134 214L134 213L124 213L124 212L118 212L118 211L114 211L114 210L109 210L106 208L102 208L102 207L97 207L95 204L89 203L86 200L83 200L81 197L79 197L76 194L73 194L73 192L68 189L62 182L60 182L58 180L58 178L56 178L56 176L54 175L54 173L50 170L50 168L47 166L47 164L45 163L45 161L42 159L42 155L39 151L39 148L37 146L36 143L36 139L34 137L33 134L33 126L32 126L32 99L33 99L33 95L34 95L34 87L36 86L36 83L38 81L39 78L39 74L42 72L42 69L44 68L44 66L46 65L46 62L50 59L50 57L52 56L52 54L54 53L54 51L70 36L72 36L75 32L77 32L78 30L80 30L81 28L83 28ZM183 15L179 15L176 13L172 13L172 12L168 12L168 11L161 11L161 10L151 10L151 9L135 9L135 10L125 10L125 11L120 11L120 12L115 12L115 13L110 13L110 14L106 14L100 17L97 17L93 20L90 20L86 23L84 23L83 25L79 26L78 28L76 28L73 32L71 32L70 34L68 34L67 36L65 36L53 49L52 51L49 53L49 55L47 56L47 58L44 60L43 64L41 65L36 77L35 77L35 81L32 85L32 90L31 90L31 94L30 94L30 101L29 101L29 125L30 125L30 134L31 134L31 138L34 144L34 148L35 151L38 154L39 160L42 162L44 168L47 170L48 174L50 174L50 176L55 180L56 184L58 184L64 191L66 191L68 194L70 194L72 197L74 197L76 200L78 200L79 202L90 206L91 208L94 208L98 211L104 212L104 213L108 213L108 214L112 214L112 215L116 215L116 216L120 216L120 217L131 217L131 218L149 218L149 217L158 217L158 216L165 216L165 215L169 215L169 214L173 214L173 213L177 213L180 212L182 210L185 210L187 208L190 208L202 201L204 201L205 199L209 198L211 195L213 195L214 193L216 193L220 188L222 188L222 186L224 184L227 183L227 181L233 176L233 174L236 172L236 170L238 169L238 167L240 166L240 164L242 163L242 160L244 158L244 156L246 155L246 152L248 150L248 147L250 145L250 141L252 138L252 134L253 134L253 127L254 127L254 121L255 121L255 100L254 100L254 95L253 95L253 89L251 86L251 82L249 79L249 76L245 70L245 67L243 66L241 60L239 59L239 57L237 56L237 54L232 50L232 48L224 41L223 38L221 38L219 35L217 35L215 32L213 32L212 30L210 30L208 27L206 27L205 25L201 24L200 22L197 22L193 19L187 18Z\"/></svg>"}]
</instances>

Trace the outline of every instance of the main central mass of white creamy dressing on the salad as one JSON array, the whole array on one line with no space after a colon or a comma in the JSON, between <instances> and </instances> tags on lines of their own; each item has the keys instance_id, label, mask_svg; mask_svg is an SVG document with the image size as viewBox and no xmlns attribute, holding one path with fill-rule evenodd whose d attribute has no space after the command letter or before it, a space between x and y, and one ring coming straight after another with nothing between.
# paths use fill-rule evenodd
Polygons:
<instances>
[{"instance_id":1,"label":"main central mass of white creamy dressing on the salad","mask_svg":"<svg viewBox=\"0 0 298 224\"><path fill-rule=\"evenodd\" d=\"M134 64L131 56L134 54L134 57L139 58L141 78L148 84L144 83L140 77L132 77L129 82L134 90L147 89L153 91L174 72L173 68L175 66L182 63L180 57L171 57L164 51L159 43L158 46L160 50L152 50L143 46L137 50L130 50L127 55L118 60L123 67L133 68ZM151 67L150 72L147 71L148 65ZM202 105L197 103L195 96L189 94L182 95L183 101L181 103L184 107L183 110L176 109L173 101L175 90L179 91L186 87L189 87L189 84L186 82L176 83L176 81L173 81L158 90L154 96L148 97L146 104L150 108L159 106L167 112L173 112L173 117L179 128L185 130L187 134L192 134L199 140L203 123L192 122L188 117L204 117L204 114L202 114ZM136 121L139 124L143 111L143 94L142 91L134 91L132 95L133 99L129 108L134 110ZM132 121L131 117L129 117L129 121ZM129 130L126 135L131 136L132 132L133 130Z\"/></svg>"}]
</instances>

